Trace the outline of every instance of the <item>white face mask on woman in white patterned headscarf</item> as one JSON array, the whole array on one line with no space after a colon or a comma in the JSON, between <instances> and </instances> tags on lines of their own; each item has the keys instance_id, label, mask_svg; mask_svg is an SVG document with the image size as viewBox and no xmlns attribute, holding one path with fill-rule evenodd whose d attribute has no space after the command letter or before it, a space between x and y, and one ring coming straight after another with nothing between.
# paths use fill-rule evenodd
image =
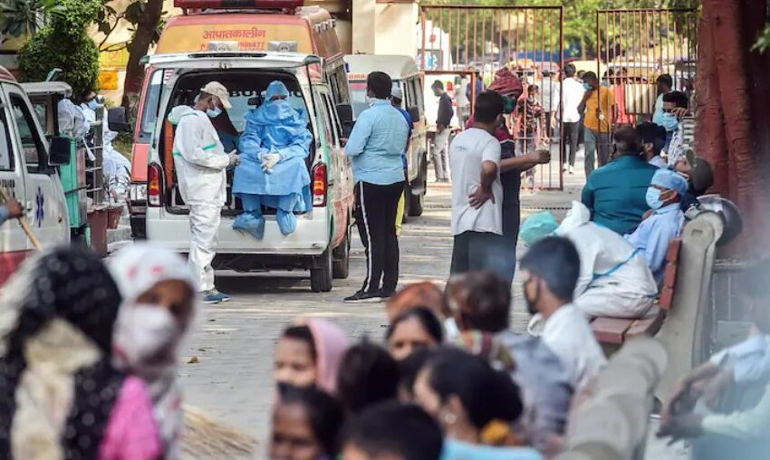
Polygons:
<instances>
[{"instance_id":1,"label":"white face mask on woman in white patterned headscarf","mask_svg":"<svg viewBox=\"0 0 770 460\"><path fill-rule=\"evenodd\" d=\"M168 309L139 304L120 309L112 348L121 362L140 372L143 366L159 364L164 359L173 362L181 334ZM148 362L156 359L159 361Z\"/></svg>"}]
</instances>

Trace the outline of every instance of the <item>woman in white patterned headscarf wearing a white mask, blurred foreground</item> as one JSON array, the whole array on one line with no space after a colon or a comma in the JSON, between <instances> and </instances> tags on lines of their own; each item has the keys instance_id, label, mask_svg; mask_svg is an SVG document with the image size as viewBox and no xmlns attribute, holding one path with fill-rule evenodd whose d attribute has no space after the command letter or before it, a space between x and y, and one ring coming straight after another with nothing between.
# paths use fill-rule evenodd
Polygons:
<instances>
[{"instance_id":1,"label":"woman in white patterned headscarf wearing a white mask, blurred foreground","mask_svg":"<svg viewBox=\"0 0 770 460\"><path fill-rule=\"evenodd\" d=\"M184 259L159 244L134 244L111 258L109 268L123 295L116 367L145 381L166 458L178 458L184 414L177 355L196 311L195 279Z\"/></svg>"}]
</instances>

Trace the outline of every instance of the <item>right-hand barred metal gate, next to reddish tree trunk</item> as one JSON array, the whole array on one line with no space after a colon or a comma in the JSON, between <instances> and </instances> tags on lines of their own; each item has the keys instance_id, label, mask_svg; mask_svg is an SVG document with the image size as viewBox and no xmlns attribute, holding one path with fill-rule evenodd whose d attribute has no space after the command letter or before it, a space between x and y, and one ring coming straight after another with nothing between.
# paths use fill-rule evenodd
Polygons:
<instances>
[{"instance_id":1,"label":"right-hand barred metal gate, next to reddish tree trunk","mask_svg":"<svg viewBox=\"0 0 770 460\"><path fill-rule=\"evenodd\" d=\"M673 89L693 94L698 59L698 10L629 9L596 12L597 75L614 91L616 125L650 120L656 80L669 74Z\"/></svg>"}]
</instances>

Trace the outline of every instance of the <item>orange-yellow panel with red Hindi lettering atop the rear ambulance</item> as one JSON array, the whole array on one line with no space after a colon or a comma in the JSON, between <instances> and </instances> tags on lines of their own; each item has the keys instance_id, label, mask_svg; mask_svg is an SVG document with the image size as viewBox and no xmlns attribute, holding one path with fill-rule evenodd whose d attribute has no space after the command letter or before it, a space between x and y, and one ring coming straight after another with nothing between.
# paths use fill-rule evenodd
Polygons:
<instances>
[{"instance_id":1,"label":"orange-yellow panel with red Hindi lettering atop the rear ambulance","mask_svg":"<svg viewBox=\"0 0 770 460\"><path fill-rule=\"evenodd\" d=\"M207 51L212 42L234 42L240 51L268 51L272 43L283 42L295 46L293 51L314 53L310 31L302 24L176 25L160 36L156 53Z\"/></svg>"}]
</instances>

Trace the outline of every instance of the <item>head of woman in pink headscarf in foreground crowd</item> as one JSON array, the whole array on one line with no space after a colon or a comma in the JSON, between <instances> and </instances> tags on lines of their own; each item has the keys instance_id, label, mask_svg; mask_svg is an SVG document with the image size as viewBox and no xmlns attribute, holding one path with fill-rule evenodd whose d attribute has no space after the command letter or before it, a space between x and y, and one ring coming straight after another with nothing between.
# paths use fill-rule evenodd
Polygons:
<instances>
[{"instance_id":1,"label":"head of woman in pink headscarf in foreground crowd","mask_svg":"<svg viewBox=\"0 0 770 460\"><path fill-rule=\"evenodd\" d=\"M318 318L288 328L275 347L274 378L278 384L337 390L337 372L349 341L331 321Z\"/></svg>"}]
</instances>

